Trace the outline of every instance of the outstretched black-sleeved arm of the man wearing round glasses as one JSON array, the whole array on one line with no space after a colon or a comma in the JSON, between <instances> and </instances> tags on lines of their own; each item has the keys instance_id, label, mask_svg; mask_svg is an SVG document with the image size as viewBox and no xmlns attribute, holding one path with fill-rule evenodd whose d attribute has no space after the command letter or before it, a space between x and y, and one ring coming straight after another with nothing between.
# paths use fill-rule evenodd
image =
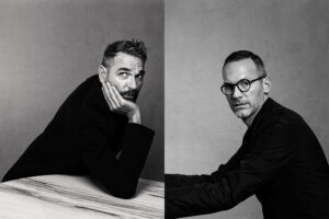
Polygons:
<instances>
[{"instance_id":1,"label":"outstretched black-sleeved arm of the man wearing round glasses","mask_svg":"<svg viewBox=\"0 0 329 219\"><path fill-rule=\"evenodd\" d=\"M226 165L211 175L171 175L175 186L168 183L172 186L166 187L166 218L226 210L256 194L294 160L296 143L290 139L285 125L273 124L259 135L252 150L246 153L242 145Z\"/></svg>"}]
</instances>

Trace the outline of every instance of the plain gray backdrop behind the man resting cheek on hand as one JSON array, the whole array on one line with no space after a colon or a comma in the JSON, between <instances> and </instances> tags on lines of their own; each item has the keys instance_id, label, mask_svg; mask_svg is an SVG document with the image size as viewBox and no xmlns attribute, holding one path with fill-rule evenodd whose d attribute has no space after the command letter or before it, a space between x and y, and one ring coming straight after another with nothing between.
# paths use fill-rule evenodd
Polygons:
<instances>
[{"instance_id":1,"label":"plain gray backdrop behind the man resting cheek on hand","mask_svg":"<svg viewBox=\"0 0 329 219\"><path fill-rule=\"evenodd\" d=\"M148 47L137 102L156 130L141 176L163 180L163 2L1 0L1 178L71 91L97 73L105 46L132 38Z\"/></svg>"}]
</instances>

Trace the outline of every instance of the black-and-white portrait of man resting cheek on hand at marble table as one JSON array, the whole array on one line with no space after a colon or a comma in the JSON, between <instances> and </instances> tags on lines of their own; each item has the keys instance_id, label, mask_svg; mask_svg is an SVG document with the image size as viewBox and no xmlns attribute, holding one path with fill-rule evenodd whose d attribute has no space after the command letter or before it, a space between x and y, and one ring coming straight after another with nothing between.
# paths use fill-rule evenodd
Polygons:
<instances>
[{"instance_id":1,"label":"black-and-white portrait of man resting cheek on hand at marble table","mask_svg":"<svg viewBox=\"0 0 329 219\"><path fill-rule=\"evenodd\" d=\"M0 218L163 218L163 12L0 2Z\"/></svg>"}]
</instances>

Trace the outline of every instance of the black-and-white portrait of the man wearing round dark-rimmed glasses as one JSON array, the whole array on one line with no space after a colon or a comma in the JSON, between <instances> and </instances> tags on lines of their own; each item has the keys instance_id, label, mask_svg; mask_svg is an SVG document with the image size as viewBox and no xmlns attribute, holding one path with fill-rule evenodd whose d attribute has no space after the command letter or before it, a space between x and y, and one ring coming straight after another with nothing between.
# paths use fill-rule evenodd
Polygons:
<instances>
[{"instance_id":1,"label":"black-and-white portrait of the man wearing round dark-rimmed glasses","mask_svg":"<svg viewBox=\"0 0 329 219\"><path fill-rule=\"evenodd\" d=\"M164 11L166 218L329 218L329 1Z\"/></svg>"}]
</instances>

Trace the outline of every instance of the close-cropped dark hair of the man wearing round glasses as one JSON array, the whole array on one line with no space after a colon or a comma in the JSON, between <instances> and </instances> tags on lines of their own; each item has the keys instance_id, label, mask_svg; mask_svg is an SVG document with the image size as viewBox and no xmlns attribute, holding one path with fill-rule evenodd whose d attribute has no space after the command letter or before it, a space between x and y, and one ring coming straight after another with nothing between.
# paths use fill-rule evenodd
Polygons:
<instances>
[{"instance_id":1,"label":"close-cropped dark hair of the man wearing round glasses","mask_svg":"<svg viewBox=\"0 0 329 219\"><path fill-rule=\"evenodd\" d=\"M231 53L225 59L224 65L223 65L223 70L226 67L226 65L229 62L239 61L239 60L248 59L248 58L250 58L254 62L257 70L262 72L262 76L266 76L266 70L265 70L263 60L258 55L256 55L249 50L238 50L238 51Z\"/></svg>"}]
</instances>

